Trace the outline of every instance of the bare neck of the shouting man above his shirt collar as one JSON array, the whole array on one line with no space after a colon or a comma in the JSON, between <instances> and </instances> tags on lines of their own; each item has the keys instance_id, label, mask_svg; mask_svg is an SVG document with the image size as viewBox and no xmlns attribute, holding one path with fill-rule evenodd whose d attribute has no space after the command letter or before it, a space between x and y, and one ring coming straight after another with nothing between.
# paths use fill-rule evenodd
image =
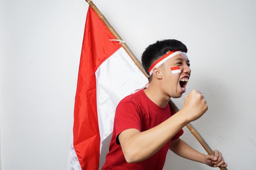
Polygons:
<instances>
[{"instance_id":1,"label":"bare neck of the shouting man above his shirt collar","mask_svg":"<svg viewBox=\"0 0 256 170\"><path fill-rule=\"evenodd\" d=\"M152 100L155 104L157 104L160 107L165 107L168 104L171 97L165 95L162 92L162 89L159 87L160 86L157 84L150 83L148 85L148 88L146 88L144 92L146 93L148 98Z\"/></svg>"}]
</instances>

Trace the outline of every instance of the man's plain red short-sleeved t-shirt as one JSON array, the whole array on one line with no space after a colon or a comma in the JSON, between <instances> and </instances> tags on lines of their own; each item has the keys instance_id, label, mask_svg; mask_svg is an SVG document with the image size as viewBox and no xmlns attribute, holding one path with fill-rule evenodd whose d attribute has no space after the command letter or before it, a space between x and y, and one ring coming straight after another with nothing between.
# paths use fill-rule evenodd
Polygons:
<instances>
[{"instance_id":1,"label":"man's plain red short-sleeved t-shirt","mask_svg":"<svg viewBox=\"0 0 256 170\"><path fill-rule=\"evenodd\" d=\"M101 170L162 170L170 142L183 134L182 129L154 155L138 163L126 162L118 135L130 128L143 132L161 124L173 114L169 105L164 108L157 106L147 97L144 90L122 99L117 106L109 152Z\"/></svg>"}]
</instances>

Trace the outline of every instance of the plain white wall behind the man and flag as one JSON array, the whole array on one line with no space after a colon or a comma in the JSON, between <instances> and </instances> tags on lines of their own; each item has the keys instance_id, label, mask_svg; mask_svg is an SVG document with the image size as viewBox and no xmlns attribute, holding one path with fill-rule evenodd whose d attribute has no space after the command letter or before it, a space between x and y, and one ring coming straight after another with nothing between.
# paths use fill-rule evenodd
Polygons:
<instances>
[{"instance_id":1,"label":"plain white wall behind the man and flag","mask_svg":"<svg viewBox=\"0 0 256 170\"><path fill-rule=\"evenodd\" d=\"M229 170L255 170L256 1L94 2L138 58L156 40L186 44L187 91L202 91L209 105L193 125ZM2 170L67 169L87 9L83 0L0 1ZM183 100L175 99L180 108ZM205 153L184 130L182 139ZM164 170L171 169L214 168L168 152Z\"/></svg>"}]
</instances>

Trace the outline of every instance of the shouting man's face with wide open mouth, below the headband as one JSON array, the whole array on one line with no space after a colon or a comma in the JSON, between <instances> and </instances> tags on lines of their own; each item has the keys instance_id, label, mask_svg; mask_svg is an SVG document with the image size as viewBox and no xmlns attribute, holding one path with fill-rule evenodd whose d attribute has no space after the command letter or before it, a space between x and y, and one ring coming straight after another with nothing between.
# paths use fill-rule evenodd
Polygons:
<instances>
[{"instance_id":1,"label":"shouting man's face with wide open mouth, below the headband","mask_svg":"<svg viewBox=\"0 0 256 170\"><path fill-rule=\"evenodd\" d=\"M179 98L186 92L186 84L189 80L191 69L189 59L184 54L171 57L159 68L162 75L162 89L164 93L173 98ZM172 73L172 67L180 67L181 73Z\"/></svg>"}]
</instances>

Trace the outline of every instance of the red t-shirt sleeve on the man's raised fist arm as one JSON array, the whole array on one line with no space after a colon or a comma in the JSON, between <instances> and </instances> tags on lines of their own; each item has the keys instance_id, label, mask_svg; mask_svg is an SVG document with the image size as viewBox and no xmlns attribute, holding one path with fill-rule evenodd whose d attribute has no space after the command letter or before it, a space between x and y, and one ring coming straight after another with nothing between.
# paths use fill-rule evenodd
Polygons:
<instances>
[{"instance_id":1,"label":"red t-shirt sleeve on the man's raised fist arm","mask_svg":"<svg viewBox=\"0 0 256 170\"><path fill-rule=\"evenodd\" d=\"M141 117L139 108L131 101L120 102L115 113L115 139L119 143L118 135L127 129L138 129L141 131Z\"/></svg>"}]
</instances>

